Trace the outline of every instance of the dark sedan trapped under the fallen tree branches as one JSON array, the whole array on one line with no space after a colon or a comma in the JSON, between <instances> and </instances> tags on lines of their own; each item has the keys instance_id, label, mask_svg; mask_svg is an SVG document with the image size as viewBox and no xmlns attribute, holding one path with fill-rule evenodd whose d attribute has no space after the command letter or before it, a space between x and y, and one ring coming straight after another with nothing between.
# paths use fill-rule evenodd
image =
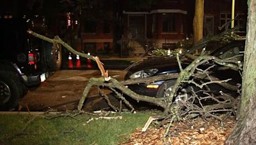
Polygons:
<instances>
[{"instance_id":1,"label":"dark sedan trapped under the fallen tree branches","mask_svg":"<svg viewBox=\"0 0 256 145\"><path fill-rule=\"evenodd\" d=\"M205 45L207 55L213 55L220 59L227 59L244 52L244 41L232 41L230 43L211 42ZM216 47L218 46L218 47ZM187 52L193 53L193 52ZM180 56L182 58L182 55ZM243 57L237 57L237 61L242 62ZM191 61L182 61L183 68L188 66ZM161 74L179 73L180 69L175 57L151 57L143 60L135 66L132 66L127 72L125 79L147 78ZM232 78L232 83L241 83L241 76L238 71L231 69L216 71L214 75L219 79ZM128 87L141 95L150 97L164 97L166 90L172 90L176 79L166 81L157 81L154 83L141 83L138 85L128 85Z\"/></svg>"}]
</instances>

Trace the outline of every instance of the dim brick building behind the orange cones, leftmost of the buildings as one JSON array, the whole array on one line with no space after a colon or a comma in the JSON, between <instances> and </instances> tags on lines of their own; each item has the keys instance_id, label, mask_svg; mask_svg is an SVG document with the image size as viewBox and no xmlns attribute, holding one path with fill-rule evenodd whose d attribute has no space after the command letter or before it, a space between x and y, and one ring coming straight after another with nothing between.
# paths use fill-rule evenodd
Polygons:
<instances>
[{"instance_id":1,"label":"dim brick building behind the orange cones, leftmost of the buildings","mask_svg":"<svg viewBox=\"0 0 256 145\"><path fill-rule=\"evenodd\" d=\"M81 23L81 39L77 50L90 53L109 53L113 51L113 0L102 1L84 11Z\"/></svg>"}]
</instances>

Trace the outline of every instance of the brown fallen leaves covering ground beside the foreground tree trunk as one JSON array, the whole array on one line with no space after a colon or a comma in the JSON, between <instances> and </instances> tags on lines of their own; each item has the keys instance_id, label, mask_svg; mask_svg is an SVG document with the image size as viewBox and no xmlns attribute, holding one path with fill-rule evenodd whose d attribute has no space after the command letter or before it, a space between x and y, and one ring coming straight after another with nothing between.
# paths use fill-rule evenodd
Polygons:
<instances>
[{"instance_id":1,"label":"brown fallen leaves covering ground beside the foreground tree trunk","mask_svg":"<svg viewBox=\"0 0 256 145\"><path fill-rule=\"evenodd\" d=\"M228 134L235 125L234 117L227 118L221 126L220 121L209 118L185 120L173 123L168 137L163 138L165 128L150 127L146 132L137 129L131 134L129 141L120 143L130 144L224 144Z\"/></svg>"}]
</instances>

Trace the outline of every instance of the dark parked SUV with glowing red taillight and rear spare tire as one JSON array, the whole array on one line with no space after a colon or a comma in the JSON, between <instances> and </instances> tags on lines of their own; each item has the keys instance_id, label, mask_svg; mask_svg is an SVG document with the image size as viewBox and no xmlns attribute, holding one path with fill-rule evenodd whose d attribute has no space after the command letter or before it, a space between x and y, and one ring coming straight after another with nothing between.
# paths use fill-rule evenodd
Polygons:
<instances>
[{"instance_id":1,"label":"dark parked SUV with glowing red taillight and rear spare tire","mask_svg":"<svg viewBox=\"0 0 256 145\"><path fill-rule=\"evenodd\" d=\"M0 19L0 110L9 110L49 72L60 69L61 48L29 36L29 21Z\"/></svg>"}]
</instances>

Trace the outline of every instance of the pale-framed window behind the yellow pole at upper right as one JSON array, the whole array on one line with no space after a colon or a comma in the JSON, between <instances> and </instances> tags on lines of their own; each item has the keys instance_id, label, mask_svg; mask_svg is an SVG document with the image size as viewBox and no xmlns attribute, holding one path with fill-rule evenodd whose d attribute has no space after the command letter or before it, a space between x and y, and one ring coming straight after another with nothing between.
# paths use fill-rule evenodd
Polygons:
<instances>
[{"instance_id":1,"label":"pale-framed window behind the yellow pole at upper right","mask_svg":"<svg viewBox=\"0 0 256 145\"><path fill-rule=\"evenodd\" d=\"M235 16L235 22L234 26L244 26L244 14L238 13L237 16ZM231 13L220 13L220 27L225 29L228 29L231 27Z\"/></svg>"}]
</instances>

